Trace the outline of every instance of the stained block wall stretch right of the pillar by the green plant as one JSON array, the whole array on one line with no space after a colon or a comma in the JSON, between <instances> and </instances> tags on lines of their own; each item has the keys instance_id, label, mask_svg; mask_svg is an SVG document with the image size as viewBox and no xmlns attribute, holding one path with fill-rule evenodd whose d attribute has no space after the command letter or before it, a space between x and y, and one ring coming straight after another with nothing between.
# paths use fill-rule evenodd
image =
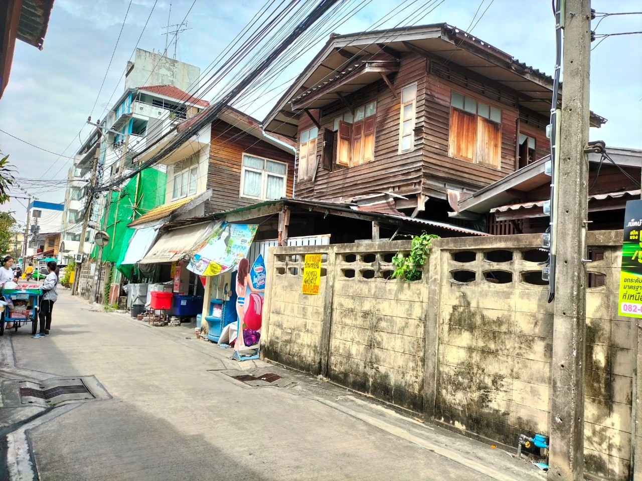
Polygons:
<instances>
[{"instance_id":1,"label":"stained block wall stretch right of the pillar by the green plant","mask_svg":"<svg viewBox=\"0 0 642 481\"><path fill-rule=\"evenodd\" d=\"M553 304L539 242L442 239L430 265L440 278L435 418L510 446L521 433L549 434ZM587 289L585 459L587 472L608 480L629 479L633 446L638 329L616 316L620 242L621 232L589 233L603 258L587 265L597 276Z\"/></svg>"}]
</instances>

